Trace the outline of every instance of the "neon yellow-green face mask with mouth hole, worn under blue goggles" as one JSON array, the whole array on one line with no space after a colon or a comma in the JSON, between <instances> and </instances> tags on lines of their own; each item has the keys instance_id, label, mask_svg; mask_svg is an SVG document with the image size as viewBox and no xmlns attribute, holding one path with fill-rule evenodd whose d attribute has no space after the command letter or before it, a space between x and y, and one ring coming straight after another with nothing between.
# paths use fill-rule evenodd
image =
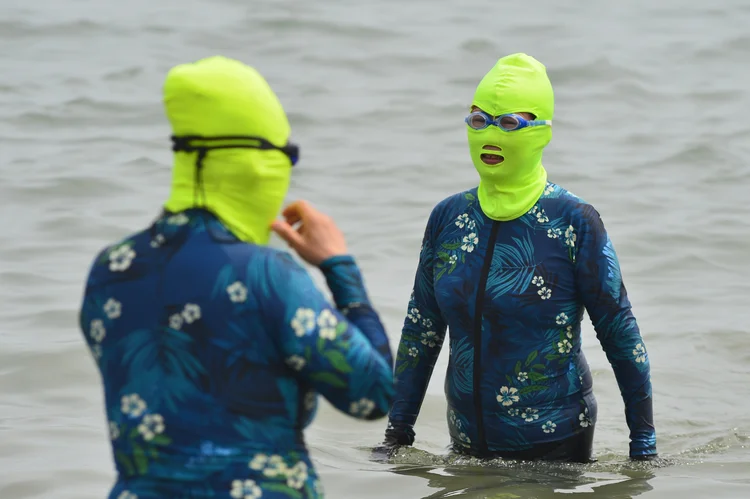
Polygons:
<instances>
[{"instance_id":1,"label":"neon yellow-green face mask with mouth hole, worn under blue goggles","mask_svg":"<svg viewBox=\"0 0 750 499\"><path fill-rule=\"evenodd\" d=\"M537 120L552 120L554 94L545 67L526 54L512 54L482 78L472 102L485 113L499 116L531 113ZM547 172L542 152L552 139L549 126L511 132L490 125L474 130L467 125L469 152L479 173L479 204L493 220L514 220L529 211L544 192ZM483 149L499 147L500 151ZM482 154L498 154L497 165L486 164Z\"/></svg>"}]
</instances>

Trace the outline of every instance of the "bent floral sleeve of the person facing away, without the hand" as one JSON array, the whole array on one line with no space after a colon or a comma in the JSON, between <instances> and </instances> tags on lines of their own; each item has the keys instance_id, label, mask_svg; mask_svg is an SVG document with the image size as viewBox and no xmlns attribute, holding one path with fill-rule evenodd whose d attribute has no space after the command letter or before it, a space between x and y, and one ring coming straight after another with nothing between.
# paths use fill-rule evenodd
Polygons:
<instances>
[{"instance_id":1,"label":"bent floral sleeve of the person facing away, without the hand","mask_svg":"<svg viewBox=\"0 0 750 499\"><path fill-rule=\"evenodd\" d=\"M349 256L320 265L336 302L331 307L309 274L288 255L271 279L284 359L340 411L374 420L393 399L388 337Z\"/></svg>"}]
</instances>

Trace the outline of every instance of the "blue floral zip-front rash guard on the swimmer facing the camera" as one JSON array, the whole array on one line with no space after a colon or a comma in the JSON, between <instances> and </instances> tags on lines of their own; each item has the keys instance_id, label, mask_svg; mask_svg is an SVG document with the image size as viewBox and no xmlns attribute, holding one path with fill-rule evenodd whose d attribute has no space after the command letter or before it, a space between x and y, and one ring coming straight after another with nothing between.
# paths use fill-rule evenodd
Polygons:
<instances>
[{"instance_id":1,"label":"blue floral zip-front rash guard on the swimmer facing the camera","mask_svg":"<svg viewBox=\"0 0 750 499\"><path fill-rule=\"evenodd\" d=\"M594 207L549 182L509 222L484 215L476 188L443 200L424 234L386 433L413 443L448 329L454 448L482 456L579 435L597 412L581 349L584 310L625 403L630 455L656 454L646 347Z\"/></svg>"}]
</instances>

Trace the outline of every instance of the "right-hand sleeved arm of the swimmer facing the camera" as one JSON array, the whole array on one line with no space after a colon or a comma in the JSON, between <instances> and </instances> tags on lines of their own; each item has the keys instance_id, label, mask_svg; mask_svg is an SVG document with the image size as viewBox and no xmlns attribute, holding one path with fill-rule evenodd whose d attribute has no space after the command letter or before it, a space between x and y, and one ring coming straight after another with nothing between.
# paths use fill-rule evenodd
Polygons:
<instances>
[{"instance_id":1,"label":"right-hand sleeved arm of the swimmer facing the camera","mask_svg":"<svg viewBox=\"0 0 750 499\"><path fill-rule=\"evenodd\" d=\"M646 346L631 311L612 241L592 207L584 213L576 252L578 292L625 402L630 456L636 459L656 456Z\"/></svg>"}]
</instances>

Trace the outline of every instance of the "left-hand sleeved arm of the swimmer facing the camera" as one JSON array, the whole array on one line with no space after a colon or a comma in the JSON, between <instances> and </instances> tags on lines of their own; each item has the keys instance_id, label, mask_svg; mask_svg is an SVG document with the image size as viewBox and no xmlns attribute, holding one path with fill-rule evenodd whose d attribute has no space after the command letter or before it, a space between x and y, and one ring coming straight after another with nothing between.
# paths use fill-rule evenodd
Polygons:
<instances>
[{"instance_id":1,"label":"left-hand sleeved arm of the swimmer facing the camera","mask_svg":"<svg viewBox=\"0 0 750 499\"><path fill-rule=\"evenodd\" d=\"M396 397L389 415L386 443L414 443L414 423L445 338L446 324L435 300L434 250L430 216L422 239L414 288L396 354Z\"/></svg>"}]
</instances>

